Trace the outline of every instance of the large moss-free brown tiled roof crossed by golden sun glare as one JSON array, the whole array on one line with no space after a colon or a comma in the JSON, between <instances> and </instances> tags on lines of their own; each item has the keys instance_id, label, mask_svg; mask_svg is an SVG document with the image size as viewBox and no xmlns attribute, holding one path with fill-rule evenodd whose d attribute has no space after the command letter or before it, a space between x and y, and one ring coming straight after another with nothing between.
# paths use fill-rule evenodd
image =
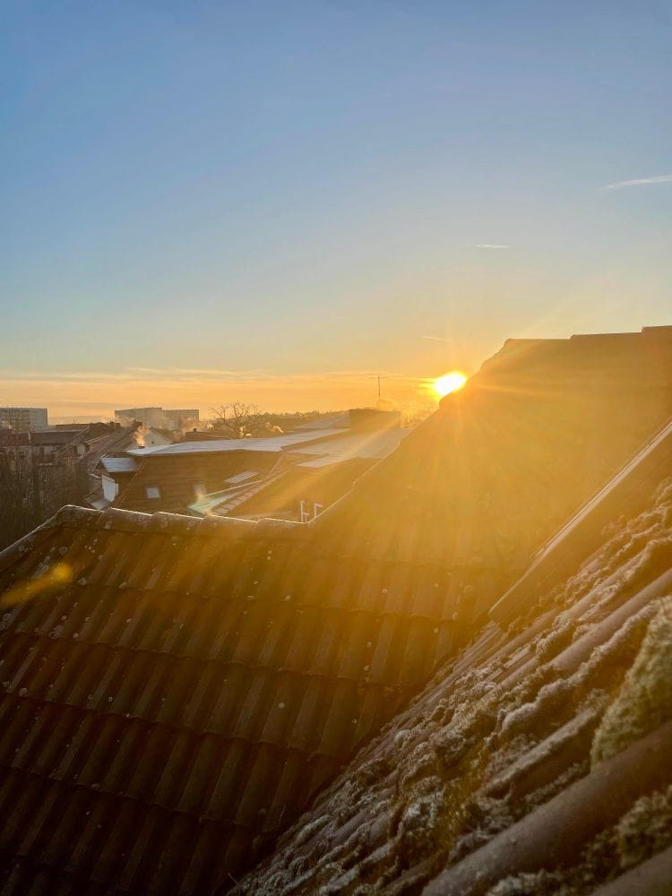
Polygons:
<instances>
[{"instance_id":1,"label":"large moss-free brown tiled roof crossed by golden sun glare","mask_svg":"<svg viewBox=\"0 0 672 896\"><path fill-rule=\"evenodd\" d=\"M0 555L6 891L232 883L659 428L661 341L509 346L315 525L65 509Z\"/></svg>"}]
</instances>

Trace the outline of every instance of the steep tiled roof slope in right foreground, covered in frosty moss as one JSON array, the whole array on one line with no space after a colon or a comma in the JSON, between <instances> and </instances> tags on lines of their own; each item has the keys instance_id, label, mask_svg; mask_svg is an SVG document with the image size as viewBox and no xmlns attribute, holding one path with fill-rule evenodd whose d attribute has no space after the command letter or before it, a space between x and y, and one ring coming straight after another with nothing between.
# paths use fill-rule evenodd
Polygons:
<instances>
[{"instance_id":1,"label":"steep tiled roof slope in right foreground, covered in frosty moss","mask_svg":"<svg viewBox=\"0 0 672 896\"><path fill-rule=\"evenodd\" d=\"M653 453L509 591L508 631L491 623L444 668L240 896L672 892L672 424Z\"/></svg>"}]
</instances>

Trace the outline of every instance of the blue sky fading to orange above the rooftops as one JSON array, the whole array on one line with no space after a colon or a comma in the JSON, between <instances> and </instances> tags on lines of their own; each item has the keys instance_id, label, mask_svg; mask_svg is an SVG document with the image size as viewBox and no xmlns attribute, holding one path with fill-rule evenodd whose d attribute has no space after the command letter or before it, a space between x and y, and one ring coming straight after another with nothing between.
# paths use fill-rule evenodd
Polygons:
<instances>
[{"instance_id":1,"label":"blue sky fading to orange above the rooftops","mask_svg":"<svg viewBox=\"0 0 672 896\"><path fill-rule=\"evenodd\" d=\"M4 0L0 405L333 409L672 323L672 4Z\"/></svg>"}]
</instances>

